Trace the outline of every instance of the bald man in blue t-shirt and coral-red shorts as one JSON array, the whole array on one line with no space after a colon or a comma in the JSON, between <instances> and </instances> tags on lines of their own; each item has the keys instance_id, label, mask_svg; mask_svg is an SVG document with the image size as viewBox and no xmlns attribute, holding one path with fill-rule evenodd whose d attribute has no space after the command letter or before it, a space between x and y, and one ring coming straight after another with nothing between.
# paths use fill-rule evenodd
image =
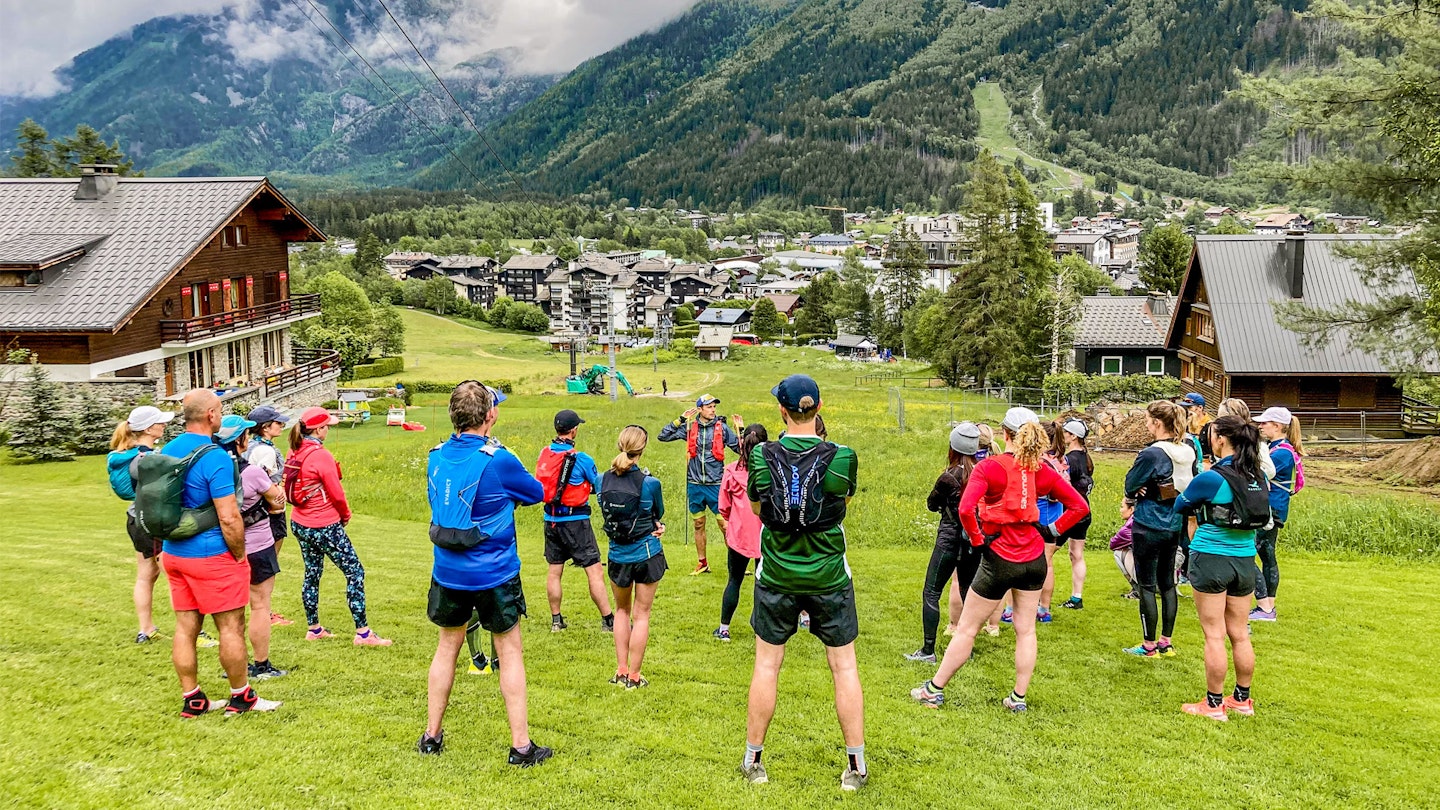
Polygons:
<instances>
[{"instance_id":1,"label":"bald man in blue t-shirt and coral-red shorts","mask_svg":"<svg viewBox=\"0 0 1440 810\"><path fill-rule=\"evenodd\" d=\"M215 444L225 415L220 398L212 391L196 389L184 395L181 404L184 432L166 444L160 453L186 458L203 451L184 479L180 504L186 509L215 506L219 526L186 538L164 542L166 579L170 582L170 605L176 611L176 638L171 660L180 676L184 703L181 718L196 718L212 709L210 699L200 690L196 675L194 643L200 623L209 615L220 631L220 666L230 680L230 702L225 716L245 712L272 712L279 700L265 700L255 695L246 673L245 605L251 601L251 564L245 556L245 522L235 499L235 463L230 454ZM206 450L213 447L213 450Z\"/></svg>"}]
</instances>

